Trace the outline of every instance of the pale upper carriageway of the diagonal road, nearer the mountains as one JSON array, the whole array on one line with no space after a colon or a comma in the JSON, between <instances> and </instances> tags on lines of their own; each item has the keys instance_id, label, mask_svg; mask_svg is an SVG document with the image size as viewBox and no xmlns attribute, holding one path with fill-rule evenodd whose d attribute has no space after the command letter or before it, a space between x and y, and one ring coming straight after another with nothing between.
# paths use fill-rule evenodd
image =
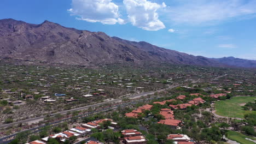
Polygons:
<instances>
[{"instance_id":1,"label":"pale upper carriageway of the diagonal road, nearer the mountains","mask_svg":"<svg viewBox=\"0 0 256 144\"><path fill-rule=\"evenodd\" d=\"M175 88L175 87L178 87L179 85L172 85L168 88L164 88L164 89L159 89L159 90L156 90L156 91L151 91L151 92L143 92L143 93L139 93L139 94L134 94L134 95L129 95L129 96L126 96L126 97L123 97L123 98L139 98L139 97L144 97L146 95L149 95L149 94L154 94L155 92L161 92L161 91L165 91L166 89L172 89L172 88ZM71 109L71 110L67 110L67 111L62 111L62 112L57 112L57 113L54 113L54 114L51 114L52 116L54 115L57 115L57 114L66 114L68 112L73 112L73 111L80 111L80 110L85 110L85 109L88 109L89 107L96 107L96 106L100 106L100 105L104 105L104 104L109 104L109 103L113 103L113 102L116 102L116 101L120 101L122 100L123 98L119 98L119 99L114 99L114 100L109 100L109 101L104 101L102 103L97 103L97 104L93 104L93 105L88 105L88 106L83 106L83 107L78 107L78 108L75 108L75 109ZM20 124L20 123L30 123L30 122L33 122L33 121L38 121L38 119L44 119L46 116L40 116L40 117L35 117L35 118L30 118L30 119L25 119L25 120L22 120L22 121L19 121L19 122L13 122L13 123L9 123L9 124L3 124L3 125L0 125L0 128L6 128L6 127L11 127L13 125L16 125L16 124Z\"/></svg>"}]
</instances>

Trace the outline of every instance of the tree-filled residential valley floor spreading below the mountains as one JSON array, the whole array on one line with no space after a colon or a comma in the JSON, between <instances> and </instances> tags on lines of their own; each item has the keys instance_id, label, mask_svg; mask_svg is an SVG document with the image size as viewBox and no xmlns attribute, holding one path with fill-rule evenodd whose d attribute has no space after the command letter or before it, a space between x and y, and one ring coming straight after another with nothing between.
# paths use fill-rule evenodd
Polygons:
<instances>
[{"instance_id":1,"label":"tree-filled residential valley floor spreading below the mountains","mask_svg":"<svg viewBox=\"0 0 256 144\"><path fill-rule=\"evenodd\" d=\"M0 70L0 143L255 142L251 69L2 63Z\"/></svg>"}]
</instances>

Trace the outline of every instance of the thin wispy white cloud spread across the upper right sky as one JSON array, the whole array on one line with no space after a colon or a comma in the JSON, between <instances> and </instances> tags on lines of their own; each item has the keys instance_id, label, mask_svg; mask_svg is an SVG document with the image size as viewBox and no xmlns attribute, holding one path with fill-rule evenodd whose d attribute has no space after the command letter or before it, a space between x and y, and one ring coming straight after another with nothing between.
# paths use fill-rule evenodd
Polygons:
<instances>
[{"instance_id":1,"label":"thin wispy white cloud spread across the upper right sky","mask_svg":"<svg viewBox=\"0 0 256 144\"><path fill-rule=\"evenodd\" d=\"M167 9L171 21L199 24L256 14L255 0L183 0Z\"/></svg>"}]
</instances>

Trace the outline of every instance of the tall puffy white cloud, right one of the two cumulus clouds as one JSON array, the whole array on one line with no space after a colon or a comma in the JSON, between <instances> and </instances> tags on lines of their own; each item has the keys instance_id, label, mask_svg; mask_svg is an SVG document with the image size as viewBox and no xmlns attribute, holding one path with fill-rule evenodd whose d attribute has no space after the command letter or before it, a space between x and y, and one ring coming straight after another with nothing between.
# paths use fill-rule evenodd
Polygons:
<instances>
[{"instance_id":1,"label":"tall puffy white cloud, right one of the two cumulus clouds","mask_svg":"<svg viewBox=\"0 0 256 144\"><path fill-rule=\"evenodd\" d=\"M165 3L160 5L147 0L124 0L123 3L128 19L133 26L147 31L158 31L165 28L164 23L159 20L158 13L156 13L159 8L166 7Z\"/></svg>"}]
</instances>

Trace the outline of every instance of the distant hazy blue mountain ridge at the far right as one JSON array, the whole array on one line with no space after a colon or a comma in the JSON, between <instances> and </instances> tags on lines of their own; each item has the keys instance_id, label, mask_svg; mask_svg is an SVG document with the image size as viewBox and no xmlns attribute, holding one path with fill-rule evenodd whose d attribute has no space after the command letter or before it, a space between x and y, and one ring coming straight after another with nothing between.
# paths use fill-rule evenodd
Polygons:
<instances>
[{"instance_id":1,"label":"distant hazy blue mountain ridge at the far right","mask_svg":"<svg viewBox=\"0 0 256 144\"><path fill-rule=\"evenodd\" d=\"M232 65L232 66L242 67L242 68L256 68L255 60L241 59L241 58L235 58L235 57L223 57L223 58L212 58L212 59L226 65Z\"/></svg>"}]
</instances>

